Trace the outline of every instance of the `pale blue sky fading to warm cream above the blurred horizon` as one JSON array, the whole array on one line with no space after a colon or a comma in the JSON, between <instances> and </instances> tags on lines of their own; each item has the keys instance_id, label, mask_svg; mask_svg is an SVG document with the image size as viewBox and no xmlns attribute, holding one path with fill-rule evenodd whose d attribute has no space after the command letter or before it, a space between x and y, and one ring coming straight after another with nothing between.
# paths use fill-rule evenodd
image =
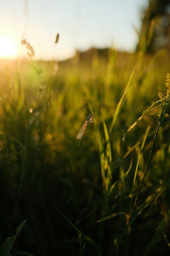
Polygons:
<instances>
[{"instance_id":1,"label":"pale blue sky fading to warm cream above the blurred horizon","mask_svg":"<svg viewBox=\"0 0 170 256\"><path fill-rule=\"evenodd\" d=\"M111 47L133 51L134 27L148 0L5 0L0 1L0 38L10 38L17 54L27 57L22 39L35 59L67 59L75 50ZM56 35L59 41L55 44Z\"/></svg>"}]
</instances>

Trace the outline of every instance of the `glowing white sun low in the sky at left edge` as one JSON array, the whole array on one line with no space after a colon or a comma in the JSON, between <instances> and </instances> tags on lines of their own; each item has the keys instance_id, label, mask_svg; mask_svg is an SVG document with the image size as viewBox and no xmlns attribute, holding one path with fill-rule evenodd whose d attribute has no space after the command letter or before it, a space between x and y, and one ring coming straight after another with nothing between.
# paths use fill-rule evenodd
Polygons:
<instances>
[{"instance_id":1,"label":"glowing white sun low in the sky at left edge","mask_svg":"<svg viewBox=\"0 0 170 256\"><path fill-rule=\"evenodd\" d=\"M7 37L0 37L0 58L15 58L17 47L15 43Z\"/></svg>"}]
</instances>

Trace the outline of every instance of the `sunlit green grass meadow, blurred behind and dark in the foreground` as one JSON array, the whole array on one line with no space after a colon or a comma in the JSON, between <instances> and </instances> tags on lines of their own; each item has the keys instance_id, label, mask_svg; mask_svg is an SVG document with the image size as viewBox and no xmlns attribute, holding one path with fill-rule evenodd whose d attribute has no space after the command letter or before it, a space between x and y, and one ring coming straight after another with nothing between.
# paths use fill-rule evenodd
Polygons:
<instances>
[{"instance_id":1,"label":"sunlit green grass meadow, blurred behind and dark in the foreground","mask_svg":"<svg viewBox=\"0 0 170 256\"><path fill-rule=\"evenodd\" d=\"M1 256L170 254L167 73L165 49L0 60Z\"/></svg>"}]
</instances>

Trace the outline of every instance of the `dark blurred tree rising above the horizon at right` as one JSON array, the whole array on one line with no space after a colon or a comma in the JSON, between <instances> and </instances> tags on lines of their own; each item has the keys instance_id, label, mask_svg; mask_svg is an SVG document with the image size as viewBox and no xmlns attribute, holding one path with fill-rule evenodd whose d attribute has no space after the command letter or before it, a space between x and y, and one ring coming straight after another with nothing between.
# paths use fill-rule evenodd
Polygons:
<instances>
[{"instance_id":1,"label":"dark blurred tree rising above the horizon at right","mask_svg":"<svg viewBox=\"0 0 170 256\"><path fill-rule=\"evenodd\" d=\"M157 52L163 47L170 48L170 1L149 0L142 12L142 23L137 47L145 52Z\"/></svg>"}]
</instances>

